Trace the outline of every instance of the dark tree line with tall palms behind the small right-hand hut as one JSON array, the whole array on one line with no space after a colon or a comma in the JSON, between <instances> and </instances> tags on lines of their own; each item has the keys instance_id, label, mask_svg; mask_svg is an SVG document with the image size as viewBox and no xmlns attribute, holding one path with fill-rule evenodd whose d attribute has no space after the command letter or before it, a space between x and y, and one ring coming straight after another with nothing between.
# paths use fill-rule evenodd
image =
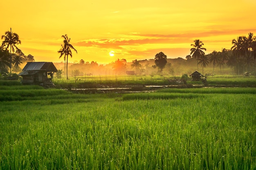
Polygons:
<instances>
[{"instance_id":1,"label":"dark tree line with tall palms behind the small right-hand hut","mask_svg":"<svg viewBox=\"0 0 256 170\"><path fill-rule=\"evenodd\" d=\"M191 48L190 55L186 58L189 59L191 57L197 58L198 64L201 64L202 72L204 74L204 68L208 66L209 62L213 63L213 72L214 67L220 66L222 67L222 71L224 70L224 66L227 65L231 68L232 75L234 75L234 70L238 75L240 75L241 68L243 69L243 74L245 71L247 73L252 72L250 66L254 65L254 76L255 72L255 60L256 60L256 37L253 33L249 33L248 36L239 36L237 39L232 40L231 49L222 49L222 51L217 52L213 51L209 55L205 55L203 48L204 44L200 40L195 40L194 44L191 44L193 48Z\"/></svg>"}]
</instances>

